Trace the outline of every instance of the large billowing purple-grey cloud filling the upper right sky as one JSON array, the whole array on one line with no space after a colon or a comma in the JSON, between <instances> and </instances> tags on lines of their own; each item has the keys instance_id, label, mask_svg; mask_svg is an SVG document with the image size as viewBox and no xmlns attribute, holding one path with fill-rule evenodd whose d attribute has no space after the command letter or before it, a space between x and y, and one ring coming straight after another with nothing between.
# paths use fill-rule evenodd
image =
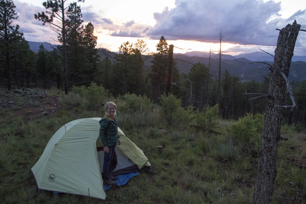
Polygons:
<instances>
[{"instance_id":1,"label":"large billowing purple-grey cloud filling the upper right sky","mask_svg":"<svg viewBox=\"0 0 306 204\"><path fill-rule=\"evenodd\" d=\"M279 33L276 28L293 23L292 18L285 20L278 14L281 2L177 0L175 4L173 9L154 13L156 24L147 32L151 39L163 35L167 40L217 43L222 31L222 42L275 46ZM304 11L294 15L299 24L306 24L305 16Z\"/></svg>"}]
</instances>

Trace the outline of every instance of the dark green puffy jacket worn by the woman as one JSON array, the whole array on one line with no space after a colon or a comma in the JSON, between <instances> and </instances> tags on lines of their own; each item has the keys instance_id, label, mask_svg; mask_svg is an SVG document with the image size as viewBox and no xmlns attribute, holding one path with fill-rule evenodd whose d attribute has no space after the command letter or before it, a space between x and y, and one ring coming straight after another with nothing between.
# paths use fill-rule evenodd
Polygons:
<instances>
[{"instance_id":1,"label":"dark green puffy jacket worn by the woman","mask_svg":"<svg viewBox=\"0 0 306 204\"><path fill-rule=\"evenodd\" d=\"M103 116L100 123L100 138L103 147L112 147L118 144L118 118L115 116L114 121L107 115Z\"/></svg>"}]
</instances>

